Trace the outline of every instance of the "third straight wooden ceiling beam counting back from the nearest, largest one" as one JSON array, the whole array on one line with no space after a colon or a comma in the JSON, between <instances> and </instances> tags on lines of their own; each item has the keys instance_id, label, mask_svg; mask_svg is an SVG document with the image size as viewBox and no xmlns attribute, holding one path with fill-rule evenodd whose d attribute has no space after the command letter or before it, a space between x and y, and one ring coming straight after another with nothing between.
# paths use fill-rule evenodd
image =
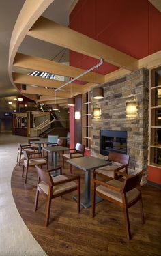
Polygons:
<instances>
[{"instance_id":1,"label":"third straight wooden ceiling beam counting back from the nearest, largest one","mask_svg":"<svg viewBox=\"0 0 161 256\"><path fill-rule=\"evenodd\" d=\"M13 72L12 74L14 83L27 84L27 85L37 85L39 87L48 87L48 88L59 88L61 85L64 85L65 81L59 81L55 79L46 79L40 76L29 76L27 74L20 74ZM78 83L72 83L72 91L83 93L83 87L85 85L79 85ZM70 85L65 86L64 91L70 91Z\"/></svg>"}]
</instances>

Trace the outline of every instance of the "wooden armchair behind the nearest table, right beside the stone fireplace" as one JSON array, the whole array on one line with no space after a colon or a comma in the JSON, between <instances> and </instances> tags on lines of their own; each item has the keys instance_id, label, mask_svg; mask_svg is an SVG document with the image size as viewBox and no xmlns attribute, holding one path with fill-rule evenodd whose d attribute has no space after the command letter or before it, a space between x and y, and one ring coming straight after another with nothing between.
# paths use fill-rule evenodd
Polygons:
<instances>
[{"instance_id":1,"label":"wooden armchair behind the nearest table, right beside the stone fireplace","mask_svg":"<svg viewBox=\"0 0 161 256\"><path fill-rule=\"evenodd\" d=\"M96 175L100 177L110 177L117 178L116 171L121 171L123 173L128 173L129 165L129 156L126 154L121 154L117 152L109 152L108 160L111 162L111 165L106 165L105 167L100 167L93 171L93 178L96 178Z\"/></svg>"}]
</instances>

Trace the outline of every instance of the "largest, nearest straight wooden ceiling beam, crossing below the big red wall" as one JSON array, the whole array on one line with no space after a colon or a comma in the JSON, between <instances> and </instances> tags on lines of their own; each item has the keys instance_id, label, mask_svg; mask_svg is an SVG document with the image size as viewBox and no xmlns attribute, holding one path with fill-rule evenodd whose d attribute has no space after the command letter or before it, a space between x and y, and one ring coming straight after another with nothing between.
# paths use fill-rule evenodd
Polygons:
<instances>
[{"instance_id":1,"label":"largest, nearest straight wooden ceiling beam, crossing below the big red wall","mask_svg":"<svg viewBox=\"0 0 161 256\"><path fill-rule=\"evenodd\" d=\"M127 70L136 70L138 60L52 20L40 17L27 35L100 59Z\"/></svg>"}]
</instances>

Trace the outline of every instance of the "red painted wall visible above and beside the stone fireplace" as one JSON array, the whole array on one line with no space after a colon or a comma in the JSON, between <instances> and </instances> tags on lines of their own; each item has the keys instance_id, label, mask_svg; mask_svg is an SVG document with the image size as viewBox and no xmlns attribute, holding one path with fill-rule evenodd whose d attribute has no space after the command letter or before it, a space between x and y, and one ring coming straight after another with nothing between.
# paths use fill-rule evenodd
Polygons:
<instances>
[{"instance_id":1,"label":"red painted wall visible above and beside the stone fireplace","mask_svg":"<svg viewBox=\"0 0 161 256\"><path fill-rule=\"evenodd\" d=\"M79 0L70 14L70 28L136 59L161 49L161 14L148 0ZM87 70L96 63L97 59L70 51L71 66ZM117 69L104 63L99 73L108 74ZM70 126L72 132L74 127ZM160 169L149 167L148 179L160 184Z\"/></svg>"}]
</instances>

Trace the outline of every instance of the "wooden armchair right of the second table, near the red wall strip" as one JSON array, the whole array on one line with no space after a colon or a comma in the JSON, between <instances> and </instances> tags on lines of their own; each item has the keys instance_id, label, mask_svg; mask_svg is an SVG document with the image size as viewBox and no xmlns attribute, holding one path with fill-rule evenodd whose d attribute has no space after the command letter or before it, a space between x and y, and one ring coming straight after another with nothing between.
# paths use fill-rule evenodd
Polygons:
<instances>
[{"instance_id":1,"label":"wooden armchair right of the second table, near the red wall strip","mask_svg":"<svg viewBox=\"0 0 161 256\"><path fill-rule=\"evenodd\" d=\"M64 159L78 158L83 157L85 154L85 145L76 143L76 147L69 149L68 154L63 154L63 168L64 168ZM72 173L72 165L70 165L70 173Z\"/></svg>"}]
</instances>

